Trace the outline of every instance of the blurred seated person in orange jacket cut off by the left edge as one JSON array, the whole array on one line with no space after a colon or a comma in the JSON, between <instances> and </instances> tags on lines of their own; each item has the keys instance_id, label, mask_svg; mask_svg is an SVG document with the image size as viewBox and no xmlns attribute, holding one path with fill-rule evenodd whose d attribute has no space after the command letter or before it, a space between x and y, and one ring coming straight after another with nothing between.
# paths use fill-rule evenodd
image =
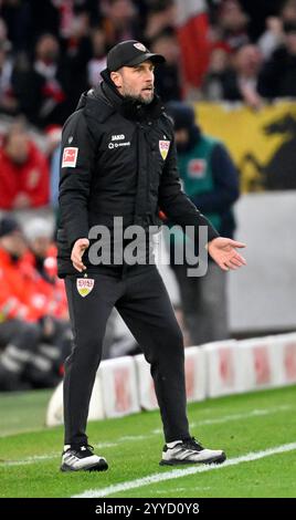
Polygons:
<instances>
[{"instance_id":1,"label":"blurred seated person in orange jacket cut off by the left edge","mask_svg":"<svg viewBox=\"0 0 296 520\"><path fill-rule=\"evenodd\" d=\"M40 327L31 305L20 263L25 251L21 228L12 217L0 220L0 391L30 387L23 374L40 342Z\"/></svg>"}]
</instances>

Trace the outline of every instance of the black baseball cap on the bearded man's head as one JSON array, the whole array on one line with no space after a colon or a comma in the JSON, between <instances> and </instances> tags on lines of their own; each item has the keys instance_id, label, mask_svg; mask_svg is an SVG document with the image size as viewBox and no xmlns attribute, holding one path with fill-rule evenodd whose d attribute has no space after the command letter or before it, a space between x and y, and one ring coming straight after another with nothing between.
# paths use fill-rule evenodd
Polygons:
<instances>
[{"instance_id":1,"label":"black baseball cap on the bearded man's head","mask_svg":"<svg viewBox=\"0 0 296 520\"><path fill-rule=\"evenodd\" d=\"M117 43L107 54L107 69L109 72L118 71L121 66L139 65L146 60L154 63L165 63L166 59L161 54L150 52L137 40L126 40Z\"/></svg>"}]
</instances>

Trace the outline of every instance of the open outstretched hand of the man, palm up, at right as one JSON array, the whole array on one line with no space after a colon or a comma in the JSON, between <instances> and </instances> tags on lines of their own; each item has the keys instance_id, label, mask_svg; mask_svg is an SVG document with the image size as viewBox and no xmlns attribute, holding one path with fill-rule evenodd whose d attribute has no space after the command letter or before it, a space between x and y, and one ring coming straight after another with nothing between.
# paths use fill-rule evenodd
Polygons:
<instances>
[{"instance_id":1,"label":"open outstretched hand of the man, palm up, at right","mask_svg":"<svg viewBox=\"0 0 296 520\"><path fill-rule=\"evenodd\" d=\"M244 257L242 257L235 248L245 248L245 243L236 242L230 238L218 237L208 243L208 252L215 263L223 270L239 269L246 266Z\"/></svg>"}]
</instances>

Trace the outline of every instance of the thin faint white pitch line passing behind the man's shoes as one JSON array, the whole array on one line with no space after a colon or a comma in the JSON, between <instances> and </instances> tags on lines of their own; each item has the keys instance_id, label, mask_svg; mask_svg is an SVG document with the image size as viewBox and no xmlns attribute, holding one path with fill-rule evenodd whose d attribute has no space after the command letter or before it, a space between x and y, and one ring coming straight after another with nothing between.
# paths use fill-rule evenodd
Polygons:
<instances>
[{"instance_id":1,"label":"thin faint white pitch line passing behind the man's shoes","mask_svg":"<svg viewBox=\"0 0 296 520\"><path fill-rule=\"evenodd\" d=\"M237 420L237 419L247 419L250 417L257 417L257 416L265 416L265 415L271 415L271 414L276 414L277 412L285 412L287 409L292 409L294 406L292 405L281 405L276 406L274 408L258 408L258 409L253 409L251 412L247 412L246 414L233 414L233 415L224 415L222 417L216 417L213 419L204 419L204 420L199 420L198 423L190 423L190 428L195 428L201 425L211 425L211 424L219 424L219 423L229 423L231 420ZM125 437L119 437L116 441L114 443L96 443L94 444L95 448L98 449L104 449L104 448L114 448L119 446L121 443L127 443L127 441L136 441L136 440L148 440L155 435L162 434L162 429L154 429L152 435L138 435L138 436L125 436ZM31 457L27 457L22 460L1 460L0 459L0 467L1 466L25 466L28 464L35 464L42 460L51 460L53 458L60 457L61 451L52 453L52 454L44 454L44 455L34 455Z\"/></svg>"}]
</instances>

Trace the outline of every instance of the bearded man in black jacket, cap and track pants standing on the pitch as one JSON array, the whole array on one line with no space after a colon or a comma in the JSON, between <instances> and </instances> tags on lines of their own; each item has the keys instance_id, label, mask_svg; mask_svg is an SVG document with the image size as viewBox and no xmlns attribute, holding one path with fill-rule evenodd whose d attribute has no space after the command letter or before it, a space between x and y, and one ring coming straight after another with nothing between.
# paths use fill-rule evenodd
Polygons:
<instances>
[{"instance_id":1,"label":"bearded man in black jacket, cap and track pants standing on the pitch","mask_svg":"<svg viewBox=\"0 0 296 520\"><path fill-rule=\"evenodd\" d=\"M182 334L160 274L147 262L148 231L158 223L159 209L182 228L192 226L197 240L199 227L207 227L208 251L223 270L245 263L235 250L244 245L219 237L180 189L172 124L154 92L154 67L163 61L134 40L115 45L103 82L83 94L63 131L59 270L65 277L74 332L65 363L64 471L107 469L106 460L93 454L85 429L114 306L151 365L166 438L160 464L225 459L222 450L204 449L190 436ZM121 254L118 219L124 231L131 225L145 231L144 256L134 264ZM105 239L97 260L94 240L103 226L110 232L113 257L106 253ZM125 235L123 249L131 238Z\"/></svg>"}]
</instances>

